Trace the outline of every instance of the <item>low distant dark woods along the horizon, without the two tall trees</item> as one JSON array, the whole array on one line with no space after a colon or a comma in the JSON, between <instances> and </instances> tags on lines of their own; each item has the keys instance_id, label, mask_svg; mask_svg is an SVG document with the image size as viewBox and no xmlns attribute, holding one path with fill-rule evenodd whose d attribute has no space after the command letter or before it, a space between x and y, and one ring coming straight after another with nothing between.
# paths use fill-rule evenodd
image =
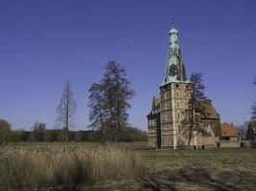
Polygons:
<instances>
[{"instance_id":1,"label":"low distant dark woods along the horizon, without the two tall trees","mask_svg":"<svg viewBox=\"0 0 256 191\"><path fill-rule=\"evenodd\" d=\"M147 141L147 133L135 127L128 127L123 134L122 141ZM99 130L68 131L68 141L109 141L110 132ZM35 122L32 130L12 130L11 124L0 119L0 143L19 141L66 141L66 133L61 129L47 129L45 123Z\"/></svg>"}]
</instances>

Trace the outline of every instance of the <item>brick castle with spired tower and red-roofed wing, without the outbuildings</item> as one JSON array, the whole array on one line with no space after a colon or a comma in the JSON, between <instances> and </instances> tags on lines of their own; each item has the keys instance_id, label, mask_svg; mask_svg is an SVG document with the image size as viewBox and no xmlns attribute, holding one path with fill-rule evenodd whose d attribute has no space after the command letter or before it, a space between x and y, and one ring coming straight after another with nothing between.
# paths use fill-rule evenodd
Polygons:
<instances>
[{"instance_id":1,"label":"brick castle with spired tower and red-roofed wing, without the outbuildings","mask_svg":"<svg viewBox=\"0 0 256 191\"><path fill-rule=\"evenodd\" d=\"M187 78L185 64L178 43L178 32L173 26L169 32L169 51L165 76L160 85L160 98L153 97L148 117L148 143L153 148L176 148L188 144L184 135L185 111L189 107L190 81ZM190 145L216 145L220 136L220 116L212 102L203 104L204 117L209 134L193 134Z\"/></svg>"}]
</instances>

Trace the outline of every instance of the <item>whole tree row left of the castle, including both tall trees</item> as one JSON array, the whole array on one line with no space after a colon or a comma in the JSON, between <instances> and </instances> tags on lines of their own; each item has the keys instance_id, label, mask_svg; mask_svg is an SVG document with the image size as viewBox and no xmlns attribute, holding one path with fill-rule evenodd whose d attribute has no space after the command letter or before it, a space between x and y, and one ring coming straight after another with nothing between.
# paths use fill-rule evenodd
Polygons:
<instances>
[{"instance_id":1,"label":"whole tree row left of the castle, including both tall trees","mask_svg":"<svg viewBox=\"0 0 256 191\"><path fill-rule=\"evenodd\" d=\"M75 127L77 103L69 81L66 82L56 109L54 129L35 122L31 131L12 131L8 121L0 123L2 141L139 141L147 134L128 123L129 100L135 95L129 87L127 73L121 64L109 61L105 74L89 88L89 130L72 131Z\"/></svg>"}]
</instances>

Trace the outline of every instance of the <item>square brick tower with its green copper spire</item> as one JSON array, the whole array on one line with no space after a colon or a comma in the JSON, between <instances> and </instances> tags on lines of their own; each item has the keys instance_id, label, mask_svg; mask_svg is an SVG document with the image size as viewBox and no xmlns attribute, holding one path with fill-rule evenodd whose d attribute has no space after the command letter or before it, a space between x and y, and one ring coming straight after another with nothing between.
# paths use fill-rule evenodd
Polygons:
<instances>
[{"instance_id":1,"label":"square brick tower with its green copper spire","mask_svg":"<svg viewBox=\"0 0 256 191\"><path fill-rule=\"evenodd\" d=\"M184 111L188 108L189 81L178 44L178 32L173 26L169 32L170 41L165 78L160 86L161 147L176 148L185 143L181 137Z\"/></svg>"}]
</instances>

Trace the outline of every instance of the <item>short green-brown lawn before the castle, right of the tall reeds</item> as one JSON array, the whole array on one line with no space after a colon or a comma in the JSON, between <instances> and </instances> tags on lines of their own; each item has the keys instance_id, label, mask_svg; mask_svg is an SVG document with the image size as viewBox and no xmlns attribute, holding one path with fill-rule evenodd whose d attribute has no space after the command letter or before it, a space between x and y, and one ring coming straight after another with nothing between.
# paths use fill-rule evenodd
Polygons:
<instances>
[{"instance_id":1,"label":"short green-brown lawn before the castle, right of the tall reeds","mask_svg":"<svg viewBox=\"0 0 256 191\"><path fill-rule=\"evenodd\" d=\"M92 190L256 190L256 149L155 150L134 148L146 166L137 180Z\"/></svg>"}]
</instances>

